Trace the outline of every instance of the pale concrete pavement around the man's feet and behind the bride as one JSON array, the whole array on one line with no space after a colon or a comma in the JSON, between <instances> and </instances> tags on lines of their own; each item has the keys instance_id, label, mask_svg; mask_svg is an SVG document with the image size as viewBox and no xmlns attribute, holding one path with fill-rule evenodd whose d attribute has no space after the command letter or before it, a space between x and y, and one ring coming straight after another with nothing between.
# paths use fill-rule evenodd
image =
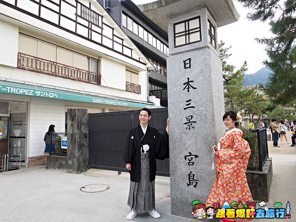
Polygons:
<instances>
[{"instance_id":1,"label":"pale concrete pavement around the man's feet and behind the bride","mask_svg":"<svg viewBox=\"0 0 296 222\"><path fill-rule=\"evenodd\" d=\"M295 147L291 145L291 132L287 132L290 144L275 148L268 141L269 156L273 162L273 181L270 204L291 204L288 221L295 222L296 192ZM106 184L106 191L87 193L80 190L89 184ZM127 205L129 174L117 175L115 171L91 169L76 174L43 167L21 168L0 173L0 221L127 221L130 209ZM197 221L170 214L170 179L155 179L156 209L161 217L152 218L148 213L139 214L133 221ZM283 219L260 219L264 221Z\"/></svg>"}]
</instances>

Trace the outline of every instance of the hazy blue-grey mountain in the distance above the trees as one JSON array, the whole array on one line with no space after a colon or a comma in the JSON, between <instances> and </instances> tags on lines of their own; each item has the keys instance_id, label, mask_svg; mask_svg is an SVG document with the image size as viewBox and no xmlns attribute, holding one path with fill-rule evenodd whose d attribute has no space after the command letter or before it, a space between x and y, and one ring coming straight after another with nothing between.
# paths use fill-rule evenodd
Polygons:
<instances>
[{"instance_id":1,"label":"hazy blue-grey mountain in the distance above the trees","mask_svg":"<svg viewBox=\"0 0 296 222\"><path fill-rule=\"evenodd\" d=\"M259 83L262 83L265 85L267 82L267 78L269 73L271 73L271 70L263 67L260 70L258 70L256 73L253 74L246 74L244 75L244 84L242 86L251 86L251 85L259 85Z\"/></svg>"}]
</instances>

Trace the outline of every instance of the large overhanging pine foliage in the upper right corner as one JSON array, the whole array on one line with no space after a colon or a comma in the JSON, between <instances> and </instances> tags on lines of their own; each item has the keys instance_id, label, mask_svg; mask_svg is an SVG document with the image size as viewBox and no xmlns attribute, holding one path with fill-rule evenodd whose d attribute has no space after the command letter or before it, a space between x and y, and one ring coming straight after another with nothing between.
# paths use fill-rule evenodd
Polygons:
<instances>
[{"instance_id":1,"label":"large overhanging pine foliage in the upper right corner","mask_svg":"<svg viewBox=\"0 0 296 222\"><path fill-rule=\"evenodd\" d=\"M271 38L257 38L266 45L269 59L263 63L272 70L262 89L277 105L287 105L296 97L296 1L238 0L244 7L252 8L250 20L269 21ZM275 12L280 15L275 18Z\"/></svg>"}]
</instances>

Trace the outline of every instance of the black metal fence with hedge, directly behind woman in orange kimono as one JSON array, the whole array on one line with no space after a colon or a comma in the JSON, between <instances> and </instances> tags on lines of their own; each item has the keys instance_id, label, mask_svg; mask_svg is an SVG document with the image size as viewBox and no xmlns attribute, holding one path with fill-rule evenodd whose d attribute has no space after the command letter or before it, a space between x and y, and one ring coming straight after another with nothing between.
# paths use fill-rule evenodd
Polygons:
<instances>
[{"instance_id":1,"label":"black metal fence with hedge, directly behind woman in orange kimono","mask_svg":"<svg viewBox=\"0 0 296 222\"><path fill-rule=\"evenodd\" d=\"M242 138L248 141L251 149L247 170L262 171L268 157L266 128L242 130L242 132L244 133Z\"/></svg>"}]
</instances>

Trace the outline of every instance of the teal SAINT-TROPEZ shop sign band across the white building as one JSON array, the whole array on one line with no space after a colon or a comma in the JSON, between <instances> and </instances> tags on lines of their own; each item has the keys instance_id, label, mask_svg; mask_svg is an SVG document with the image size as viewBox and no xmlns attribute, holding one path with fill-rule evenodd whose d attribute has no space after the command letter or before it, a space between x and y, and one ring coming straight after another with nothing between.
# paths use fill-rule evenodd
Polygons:
<instances>
[{"instance_id":1,"label":"teal SAINT-TROPEZ shop sign band across the white building","mask_svg":"<svg viewBox=\"0 0 296 222\"><path fill-rule=\"evenodd\" d=\"M136 102L127 102L122 100L115 99L104 99L96 96L83 96L74 93L66 93L52 90L44 90L44 89L35 89L30 87L20 87L8 84L0 84L0 93L9 93L9 94L17 94L24 96L38 96L44 98L52 98L52 99L64 99L71 101L79 101L79 102L90 102L90 103L98 103L105 105L113 105L113 106L125 106L125 107L136 107L136 108L161 108L161 106L153 106L148 104L141 104Z\"/></svg>"}]
</instances>

